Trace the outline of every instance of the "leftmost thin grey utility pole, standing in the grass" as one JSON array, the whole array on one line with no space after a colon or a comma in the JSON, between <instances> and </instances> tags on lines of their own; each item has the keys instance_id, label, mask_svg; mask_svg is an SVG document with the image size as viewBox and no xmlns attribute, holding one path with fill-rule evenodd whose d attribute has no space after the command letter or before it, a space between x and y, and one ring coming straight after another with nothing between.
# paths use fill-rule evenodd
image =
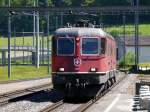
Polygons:
<instances>
[{"instance_id":1,"label":"leftmost thin grey utility pole, standing in the grass","mask_svg":"<svg viewBox=\"0 0 150 112\"><path fill-rule=\"evenodd\" d=\"M10 0L8 7L10 7ZM11 77L11 14L8 16L8 78Z\"/></svg>"}]
</instances>

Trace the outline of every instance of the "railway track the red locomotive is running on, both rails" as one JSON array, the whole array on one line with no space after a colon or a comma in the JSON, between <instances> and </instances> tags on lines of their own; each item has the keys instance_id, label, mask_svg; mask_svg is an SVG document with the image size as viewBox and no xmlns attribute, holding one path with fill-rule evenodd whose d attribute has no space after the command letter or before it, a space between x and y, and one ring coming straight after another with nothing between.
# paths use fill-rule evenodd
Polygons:
<instances>
[{"instance_id":1,"label":"railway track the red locomotive is running on, both rails","mask_svg":"<svg viewBox=\"0 0 150 112\"><path fill-rule=\"evenodd\" d=\"M104 87L102 87L102 89L99 91L99 94L91 99L90 101L88 101L87 103L81 104L79 107L77 107L75 110L73 110L72 112L84 112L86 109L88 109L91 105L93 105L96 101L98 101L100 98L102 98L103 96L105 96L109 91L111 91L112 88L114 88L116 85L118 85L123 79L126 78L126 75L124 77L122 77L119 81L117 81L113 86L111 86L108 90L103 91ZM47 106L46 108L44 108L43 110L41 110L40 112L51 112L55 109L57 109L58 107L64 105L65 103L63 102L63 100L54 103L50 106Z\"/></svg>"}]
</instances>

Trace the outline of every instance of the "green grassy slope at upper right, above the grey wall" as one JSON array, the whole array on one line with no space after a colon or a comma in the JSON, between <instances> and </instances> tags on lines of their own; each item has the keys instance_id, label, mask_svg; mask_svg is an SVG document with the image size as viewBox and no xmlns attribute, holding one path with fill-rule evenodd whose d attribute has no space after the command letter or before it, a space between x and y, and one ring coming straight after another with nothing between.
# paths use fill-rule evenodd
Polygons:
<instances>
[{"instance_id":1,"label":"green grassy slope at upper right, above the grey wall","mask_svg":"<svg viewBox=\"0 0 150 112\"><path fill-rule=\"evenodd\" d=\"M134 35L134 25L126 25L126 35ZM123 34L123 26L116 27L108 27L106 29L107 32L111 34ZM139 25L139 34L142 35L150 35L150 24L140 24Z\"/></svg>"}]
</instances>

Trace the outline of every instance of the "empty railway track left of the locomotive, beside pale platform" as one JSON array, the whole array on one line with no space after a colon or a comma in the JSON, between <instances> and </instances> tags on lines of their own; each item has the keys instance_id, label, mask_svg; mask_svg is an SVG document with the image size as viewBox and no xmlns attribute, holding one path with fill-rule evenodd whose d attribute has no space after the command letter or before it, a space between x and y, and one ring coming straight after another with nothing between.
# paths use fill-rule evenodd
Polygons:
<instances>
[{"instance_id":1,"label":"empty railway track left of the locomotive, beside pale platform","mask_svg":"<svg viewBox=\"0 0 150 112\"><path fill-rule=\"evenodd\" d=\"M4 104L8 104L9 102L17 99L17 98L21 98L23 96L27 96L27 95L31 95L46 89L50 89L52 88L51 84L45 84L45 85L40 85L40 86L36 86L36 87L31 87L31 88L27 88L27 89L23 89L23 90L17 90L14 92L8 92L5 94L1 94L0 95L0 106L4 105Z\"/></svg>"}]
</instances>

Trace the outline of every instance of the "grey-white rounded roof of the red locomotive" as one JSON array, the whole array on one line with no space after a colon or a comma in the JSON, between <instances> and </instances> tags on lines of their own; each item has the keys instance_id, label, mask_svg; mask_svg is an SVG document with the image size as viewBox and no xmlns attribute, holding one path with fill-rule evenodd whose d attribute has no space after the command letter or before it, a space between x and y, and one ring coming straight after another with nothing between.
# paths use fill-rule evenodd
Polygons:
<instances>
[{"instance_id":1,"label":"grey-white rounded roof of the red locomotive","mask_svg":"<svg viewBox=\"0 0 150 112\"><path fill-rule=\"evenodd\" d=\"M101 28L59 28L55 32L56 36L101 36L101 37L113 37L106 32L104 32Z\"/></svg>"}]
</instances>

